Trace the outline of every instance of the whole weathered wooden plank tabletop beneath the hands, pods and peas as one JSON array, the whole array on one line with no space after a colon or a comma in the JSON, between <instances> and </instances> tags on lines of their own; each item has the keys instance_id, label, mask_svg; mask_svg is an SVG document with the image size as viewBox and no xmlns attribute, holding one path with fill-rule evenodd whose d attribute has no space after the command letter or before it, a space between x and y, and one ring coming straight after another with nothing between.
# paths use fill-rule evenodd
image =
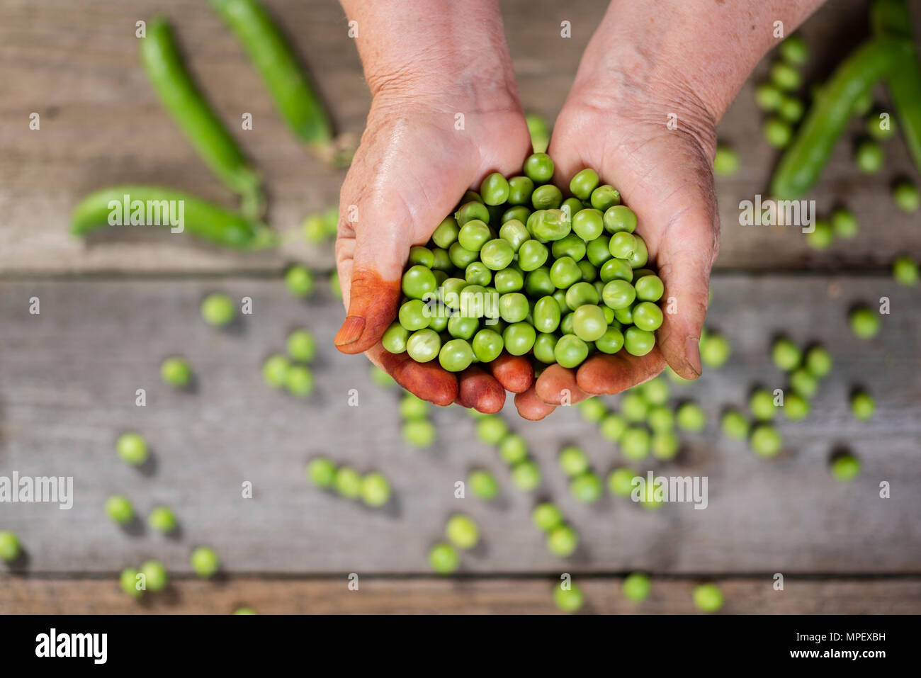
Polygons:
<instances>
[{"instance_id":1,"label":"whole weathered wooden plank tabletop beneath the hands, pods and peas","mask_svg":"<svg viewBox=\"0 0 921 678\"><path fill-rule=\"evenodd\" d=\"M341 8L332 0L267 5L297 35L336 123L360 132L368 96ZM502 3L528 111L553 119L604 5ZM862 38L866 5L833 0L804 27L815 55L811 79L827 75ZM0 475L73 476L76 494L70 510L0 504L0 529L16 531L26 550L13 567L0 567L0 612L225 614L240 604L261 613L552 612L561 573L600 613L692 612L690 590L704 579L721 584L727 612L921 611L921 317L917 288L889 275L897 253L921 258L917 215L898 213L888 197L893 177L918 181L901 141L887 143L886 169L872 177L857 172L843 142L811 196L825 212L846 199L862 227L855 240L817 253L795 229L738 226L739 201L764 190L776 159L752 101L752 82L767 62L759 67L719 130L739 150L742 169L717 184L722 249L707 324L726 334L733 354L694 385L674 387L675 402L699 401L709 423L685 436L677 461L649 465L707 476L709 506L647 511L605 497L587 507L569 496L556 452L577 441L601 473L621 457L574 409L531 424L507 405L504 415L542 467L533 497L514 489L459 408L433 415L432 449L402 440L399 393L373 385L363 359L332 348L341 304L325 286L299 302L280 282L291 261L321 276L329 271L330 246L289 235L279 251L243 255L165 233L109 233L88 245L68 235L79 197L117 182L164 183L232 205L158 107L138 64L134 22L158 11L181 18L188 63L225 119L252 113L253 130L239 136L264 172L276 228L297 231L306 214L333 204L344 176L293 142L204 3L0 0L0 70L8 74L0 100ZM573 37L554 42L563 19ZM549 38L552 48L536 38ZM41 115L38 131L29 131L32 111ZM214 290L251 297L253 314L231 331L207 327L198 305ZM848 308L882 296L892 304L882 332L858 341L847 330ZM29 313L33 297L41 299L38 315ZM321 341L317 391L306 401L269 390L260 373L262 360L300 325ZM718 416L744 403L755 384L786 385L769 356L782 332L827 345L835 368L810 418L779 424L785 450L764 461L723 437ZM192 363L193 392L158 378L160 361L176 353ZM877 399L869 422L848 413L856 385ZM141 388L146 406L136 407ZM357 407L348 405L352 389ZM153 450L154 463L140 472L114 454L127 430L143 433ZM843 448L863 461L849 484L827 468ZM395 500L369 510L311 487L303 470L318 453L386 473ZM472 466L499 474L501 501L454 497L454 483ZM883 481L891 498L880 497ZM251 498L241 497L245 482ZM161 537L118 528L103 511L116 493L145 515L157 504L172 507L181 530ZM530 524L530 508L543 497L557 501L581 535L569 559L551 555ZM458 577L433 577L427 549L459 510L478 520L483 544L463 556ZM197 544L220 554L217 581L192 576L188 555ZM118 590L117 572L151 557L169 567L174 583L132 602ZM654 577L653 594L639 606L618 589L637 569ZM351 573L358 591L348 588ZM782 591L773 588L775 573L784 575Z\"/></svg>"}]
</instances>

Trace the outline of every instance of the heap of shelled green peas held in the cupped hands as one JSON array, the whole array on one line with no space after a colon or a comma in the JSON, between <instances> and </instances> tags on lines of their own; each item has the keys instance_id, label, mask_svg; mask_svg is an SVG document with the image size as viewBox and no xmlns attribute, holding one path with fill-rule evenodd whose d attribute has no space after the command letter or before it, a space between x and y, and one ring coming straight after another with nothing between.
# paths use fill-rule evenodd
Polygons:
<instances>
[{"instance_id":1,"label":"heap of shelled green peas held in the cupped hands","mask_svg":"<svg viewBox=\"0 0 921 678\"><path fill-rule=\"evenodd\" d=\"M503 350L565 368L595 351L652 350L664 287L635 213L593 169L573 177L565 199L553 174L544 153L521 176L490 174L428 247L410 250L384 348L452 372Z\"/></svg>"}]
</instances>

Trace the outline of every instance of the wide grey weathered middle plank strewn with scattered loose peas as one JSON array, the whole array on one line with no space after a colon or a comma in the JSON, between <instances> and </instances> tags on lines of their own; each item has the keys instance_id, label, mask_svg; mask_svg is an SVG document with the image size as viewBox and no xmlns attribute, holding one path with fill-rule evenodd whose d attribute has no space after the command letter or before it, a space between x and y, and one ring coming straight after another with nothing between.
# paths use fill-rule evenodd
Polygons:
<instances>
[{"instance_id":1,"label":"wide grey weathered middle plank strewn with scattered loose peas","mask_svg":"<svg viewBox=\"0 0 921 678\"><path fill-rule=\"evenodd\" d=\"M207 327L198 314L205 293L253 299L254 313L235 332ZM545 476L536 497L553 497L581 533L570 560L550 555L530 525L536 497L508 483L495 451L473 438L458 408L434 415L433 450L402 442L396 392L371 385L367 363L338 354L332 335L342 318L321 294L307 304L273 280L97 280L5 282L0 288L0 475L73 475L71 510L0 505L0 525L17 531L35 573L109 572L157 557L188 572L196 544L212 544L230 573L419 573L452 511L479 521L484 544L463 558L465 572L914 573L921 563L921 351L916 291L884 277L720 275L709 324L729 337L733 357L676 399L698 399L710 416L689 436L677 462L657 472L706 475L709 506L651 512L607 497L597 506L568 496L555 454L577 440L602 472L619 452L573 410L531 424L507 415L531 444ZM852 301L886 295L892 314L880 336L860 342L846 330ZM29 298L41 315L29 315ZM286 332L306 324L320 341L317 392L297 401L261 382L264 357L284 347ZM740 403L756 382L784 386L771 365L772 335L819 340L835 358L807 422L781 422L787 452L771 462L718 433L723 406ZM197 392L177 393L158 380L163 357L181 353L198 376ZM857 422L847 393L863 384L878 414ZM134 406L144 388L147 405ZM350 389L359 406L349 407ZM115 438L136 429L156 456L153 473L120 462ZM864 473L843 485L826 462L846 445ZM317 453L377 468L394 486L389 510L371 511L311 488L305 462ZM453 485L474 465L495 469L503 501L455 499ZM240 487L250 481L254 498ZM892 484L881 499L878 485ZM176 510L181 536L122 533L104 516L111 494L131 497L144 514L163 503Z\"/></svg>"}]
</instances>

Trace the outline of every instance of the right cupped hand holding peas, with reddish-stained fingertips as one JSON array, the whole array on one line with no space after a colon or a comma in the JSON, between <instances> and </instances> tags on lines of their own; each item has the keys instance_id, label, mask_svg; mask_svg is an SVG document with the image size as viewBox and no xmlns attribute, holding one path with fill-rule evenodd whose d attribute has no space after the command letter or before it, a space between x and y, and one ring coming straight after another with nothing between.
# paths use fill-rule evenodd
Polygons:
<instances>
[{"instance_id":1,"label":"right cupped hand holding peas, with reddish-stained fingertips","mask_svg":"<svg viewBox=\"0 0 921 678\"><path fill-rule=\"evenodd\" d=\"M684 379L701 373L698 344L719 236L715 122L684 88L649 82L630 69L623 74L573 89L548 152L557 185L568 186L577 171L592 168L635 211L635 232L646 240L650 267L665 285L664 321L644 357L621 349L596 353L575 370L544 369L534 388L515 398L527 419L541 419L561 403L622 392L666 364Z\"/></svg>"}]
</instances>

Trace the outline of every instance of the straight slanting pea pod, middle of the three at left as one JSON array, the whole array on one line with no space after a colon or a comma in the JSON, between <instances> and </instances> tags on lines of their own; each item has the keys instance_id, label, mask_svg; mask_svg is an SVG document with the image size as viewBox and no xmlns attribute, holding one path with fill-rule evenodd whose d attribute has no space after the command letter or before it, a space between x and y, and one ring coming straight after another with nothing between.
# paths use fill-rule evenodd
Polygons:
<instances>
[{"instance_id":1,"label":"straight slanting pea pod, middle of the three at left","mask_svg":"<svg viewBox=\"0 0 921 678\"><path fill-rule=\"evenodd\" d=\"M259 177L192 82L165 18L155 18L147 26L146 38L141 41L141 62L160 103L180 126L208 169L228 189L239 193L247 214L258 214L262 205Z\"/></svg>"}]
</instances>

